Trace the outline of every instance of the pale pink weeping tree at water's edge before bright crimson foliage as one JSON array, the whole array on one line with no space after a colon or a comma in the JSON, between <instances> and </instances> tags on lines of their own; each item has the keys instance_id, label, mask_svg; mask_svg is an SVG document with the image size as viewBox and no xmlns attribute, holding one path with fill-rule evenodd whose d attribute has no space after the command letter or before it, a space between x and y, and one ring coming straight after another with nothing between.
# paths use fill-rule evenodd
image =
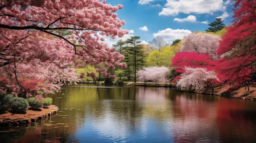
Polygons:
<instances>
[{"instance_id":1,"label":"pale pink weeping tree at water's edge before bright crimson foliage","mask_svg":"<svg viewBox=\"0 0 256 143\"><path fill-rule=\"evenodd\" d=\"M177 88L195 88L195 91L211 88L212 95L216 83L219 79L214 70L207 71L207 68L191 68L185 67L185 72L180 75L180 79L177 81Z\"/></svg>"}]
</instances>

